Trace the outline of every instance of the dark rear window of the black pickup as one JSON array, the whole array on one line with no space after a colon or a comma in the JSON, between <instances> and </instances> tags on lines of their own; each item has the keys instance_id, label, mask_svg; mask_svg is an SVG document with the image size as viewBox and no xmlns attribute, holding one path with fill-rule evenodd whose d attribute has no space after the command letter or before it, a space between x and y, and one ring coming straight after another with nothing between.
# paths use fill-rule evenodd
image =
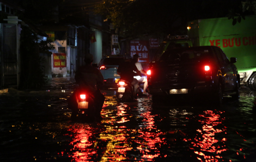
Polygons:
<instances>
[{"instance_id":1,"label":"dark rear window of the black pickup","mask_svg":"<svg viewBox=\"0 0 256 162\"><path fill-rule=\"evenodd\" d=\"M180 48L166 50L160 61L198 62L205 59L215 59L210 48Z\"/></svg>"}]
</instances>

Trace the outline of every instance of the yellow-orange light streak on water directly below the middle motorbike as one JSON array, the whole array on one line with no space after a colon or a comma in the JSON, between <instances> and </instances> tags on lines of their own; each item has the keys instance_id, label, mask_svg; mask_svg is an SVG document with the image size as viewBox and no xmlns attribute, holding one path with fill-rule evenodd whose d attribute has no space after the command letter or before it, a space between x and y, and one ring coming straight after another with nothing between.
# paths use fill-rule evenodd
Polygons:
<instances>
[{"instance_id":1,"label":"yellow-orange light streak on water directly below the middle motorbike","mask_svg":"<svg viewBox=\"0 0 256 162\"><path fill-rule=\"evenodd\" d=\"M105 114L102 124L106 130L100 134L100 139L106 141L107 144L101 161L125 160L126 152L132 150L130 134L134 132L123 125L129 121L127 120L129 118L126 113L127 109L129 109L127 105L121 104L113 109L102 110L102 114Z\"/></svg>"}]
</instances>

